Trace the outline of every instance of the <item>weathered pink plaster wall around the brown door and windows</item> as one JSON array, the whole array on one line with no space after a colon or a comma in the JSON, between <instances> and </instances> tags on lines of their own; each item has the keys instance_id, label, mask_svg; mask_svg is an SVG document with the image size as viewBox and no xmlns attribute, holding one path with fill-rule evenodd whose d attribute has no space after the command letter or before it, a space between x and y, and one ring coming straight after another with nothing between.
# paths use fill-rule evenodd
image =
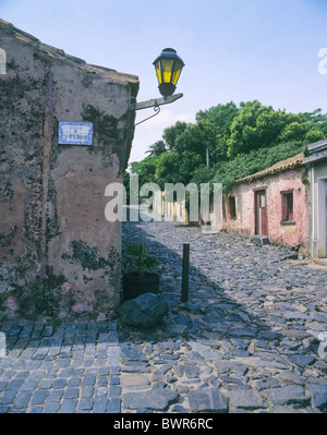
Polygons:
<instances>
[{"instance_id":1,"label":"weathered pink plaster wall around the brown door and windows","mask_svg":"<svg viewBox=\"0 0 327 435\"><path fill-rule=\"evenodd\" d=\"M225 202L223 229L245 237L255 233L254 192L266 190L268 237L270 242L307 251L307 184L305 169L293 169L275 176L263 177L247 183L235 184L228 196L235 197L237 218L231 219ZM281 223L281 192L293 190L294 225Z\"/></svg>"}]
</instances>

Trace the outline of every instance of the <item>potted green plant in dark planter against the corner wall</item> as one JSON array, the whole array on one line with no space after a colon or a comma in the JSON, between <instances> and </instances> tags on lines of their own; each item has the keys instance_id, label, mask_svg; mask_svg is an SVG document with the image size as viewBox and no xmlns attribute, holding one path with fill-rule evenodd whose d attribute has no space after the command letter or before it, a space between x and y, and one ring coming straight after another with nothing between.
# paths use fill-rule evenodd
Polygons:
<instances>
[{"instance_id":1,"label":"potted green plant in dark planter against the corner wall","mask_svg":"<svg viewBox=\"0 0 327 435\"><path fill-rule=\"evenodd\" d=\"M152 273L158 259L150 255L146 245L142 242L130 243L126 247L126 267L131 271L123 274L123 299L128 301L144 293L159 291L159 274Z\"/></svg>"}]
</instances>

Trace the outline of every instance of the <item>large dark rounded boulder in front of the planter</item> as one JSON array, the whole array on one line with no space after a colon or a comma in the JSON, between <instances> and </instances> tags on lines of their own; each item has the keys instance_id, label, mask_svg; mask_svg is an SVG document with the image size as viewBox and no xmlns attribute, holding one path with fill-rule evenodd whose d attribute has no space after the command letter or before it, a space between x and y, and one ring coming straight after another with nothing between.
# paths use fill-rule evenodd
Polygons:
<instances>
[{"instance_id":1,"label":"large dark rounded boulder in front of the planter","mask_svg":"<svg viewBox=\"0 0 327 435\"><path fill-rule=\"evenodd\" d=\"M157 325L168 313L168 304L162 294L145 293L124 302L119 313L123 323L148 328Z\"/></svg>"}]
</instances>

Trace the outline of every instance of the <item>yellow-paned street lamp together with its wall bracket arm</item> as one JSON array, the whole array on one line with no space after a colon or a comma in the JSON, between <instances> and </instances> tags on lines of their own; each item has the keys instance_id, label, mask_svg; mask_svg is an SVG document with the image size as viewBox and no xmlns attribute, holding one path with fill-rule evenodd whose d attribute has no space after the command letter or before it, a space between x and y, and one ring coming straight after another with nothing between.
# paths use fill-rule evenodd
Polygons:
<instances>
[{"instance_id":1,"label":"yellow-paned street lamp together with its wall bracket arm","mask_svg":"<svg viewBox=\"0 0 327 435\"><path fill-rule=\"evenodd\" d=\"M159 106L173 102L183 96L183 94L173 95L178 80L184 67L184 62L177 55L177 51L173 48L165 48L161 55L154 61L154 65L159 83L159 92L164 98L149 99L147 101L130 105L129 109L132 111L153 107L156 112L143 121L137 122L135 125L141 124L142 122L147 121L148 119L158 114L160 111Z\"/></svg>"}]
</instances>

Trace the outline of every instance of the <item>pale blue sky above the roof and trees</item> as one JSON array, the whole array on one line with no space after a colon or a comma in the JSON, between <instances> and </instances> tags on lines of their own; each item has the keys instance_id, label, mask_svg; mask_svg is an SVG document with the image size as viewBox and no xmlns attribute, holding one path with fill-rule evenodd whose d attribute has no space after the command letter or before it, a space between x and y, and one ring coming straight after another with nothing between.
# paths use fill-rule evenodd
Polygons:
<instances>
[{"instance_id":1,"label":"pale blue sky above the roof and trees","mask_svg":"<svg viewBox=\"0 0 327 435\"><path fill-rule=\"evenodd\" d=\"M318 71L327 0L0 0L0 17L88 63L138 75L137 101L161 97L153 61L177 50L184 96L136 126L130 161L165 128L231 100L327 112L327 74ZM150 114L137 112L136 122Z\"/></svg>"}]
</instances>

